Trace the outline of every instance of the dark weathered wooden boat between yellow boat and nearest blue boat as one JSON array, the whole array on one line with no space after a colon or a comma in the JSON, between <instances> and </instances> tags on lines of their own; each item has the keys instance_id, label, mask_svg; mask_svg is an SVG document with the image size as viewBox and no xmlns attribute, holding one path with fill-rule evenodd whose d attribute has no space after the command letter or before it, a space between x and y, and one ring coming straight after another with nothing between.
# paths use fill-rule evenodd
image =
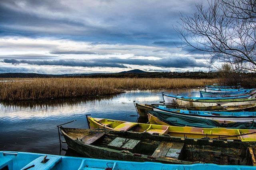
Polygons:
<instances>
[{"instance_id":1,"label":"dark weathered wooden boat between yellow boat and nearest blue boat","mask_svg":"<svg viewBox=\"0 0 256 170\"><path fill-rule=\"evenodd\" d=\"M204 162L254 165L255 162L253 152L255 142L193 140L168 135L118 132L106 129L61 127L60 130L69 148L92 158L170 164ZM134 168L137 169L136 166ZM147 168L142 167L143 170ZM126 168L122 166L122 169ZM155 168L153 166L149 169ZM161 167L161 169L168 168Z\"/></svg>"}]
</instances>

